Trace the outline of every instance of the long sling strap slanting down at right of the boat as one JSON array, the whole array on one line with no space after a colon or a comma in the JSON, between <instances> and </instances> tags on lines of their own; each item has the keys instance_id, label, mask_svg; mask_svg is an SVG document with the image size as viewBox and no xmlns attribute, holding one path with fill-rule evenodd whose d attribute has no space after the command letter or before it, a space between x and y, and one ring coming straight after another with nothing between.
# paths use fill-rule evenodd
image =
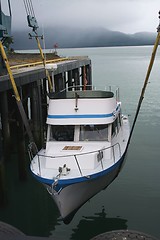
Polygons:
<instances>
[{"instance_id":1,"label":"long sling strap slanting down at right of the boat","mask_svg":"<svg viewBox=\"0 0 160 240\"><path fill-rule=\"evenodd\" d=\"M160 11L159 11L159 19L160 19ZM130 140L131 140L131 137L132 137L132 134L133 134L133 130L134 130L134 127L135 127L135 124L136 124L136 121L137 121L137 117L138 117L138 114L139 114L139 111L140 111L140 108L141 108L142 101L144 99L145 90L146 90L146 87L147 87L147 84L148 84L148 80L149 80L150 73L151 73L153 63L154 63L154 60L155 60L157 48L158 48L158 45L159 45L159 42L160 42L160 22L159 22L159 26L157 27L157 32L158 32L158 34L157 34L157 37L156 37L156 40L155 40L155 43L154 43L154 47L153 47L153 50L152 50L152 55L151 55L151 59L150 59L150 62L149 62L147 74L146 74L145 81L144 81L144 84L143 84L143 88L141 90L140 98L139 98L139 101L138 101L136 114L135 114L135 117L134 117L134 121L133 121L131 132L130 132L130 136L129 136L129 139L128 139L127 148L128 148L128 145L130 143Z\"/></svg>"}]
</instances>

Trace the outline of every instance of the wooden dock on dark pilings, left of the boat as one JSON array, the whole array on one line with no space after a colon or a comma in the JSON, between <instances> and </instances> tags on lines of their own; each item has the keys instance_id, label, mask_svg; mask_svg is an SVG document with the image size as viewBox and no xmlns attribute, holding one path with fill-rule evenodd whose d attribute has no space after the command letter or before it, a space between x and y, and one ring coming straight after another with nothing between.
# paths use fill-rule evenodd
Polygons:
<instances>
[{"instance_id":1,"label":"wooden dock on dark pilings, left of the boat","mask_svg":"<svg viewBox=\"0 0 160 240\"><path fill-rule=\"evenodd\" d=\"M34 59L34 58L33 58ZM47 99L49 84L46 70L41 61L26 59L20 64L12 59L10 68L25 110L34 141L41 149L46 137ZM54 58L46 64L56 66L50 69L54 91L68 87L92 85L91 60L84 57ZM46 66L47 66L46 65ZM2 71L1 71L2 73ZM5 161L16 151L19 179L27 179L26 158L28 139L24 124L17 108L16 99L8 74L0 76L0 205L5 202Z\"/></svg>"}]
</instances>

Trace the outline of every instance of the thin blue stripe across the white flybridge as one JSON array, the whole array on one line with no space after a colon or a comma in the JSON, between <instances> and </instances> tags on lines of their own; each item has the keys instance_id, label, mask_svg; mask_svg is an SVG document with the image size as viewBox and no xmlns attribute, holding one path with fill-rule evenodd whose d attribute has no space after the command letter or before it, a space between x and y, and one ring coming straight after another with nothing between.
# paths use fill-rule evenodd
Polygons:
<instances>
[{"instance_id":1,"label":"thin blue stripe across the white flybridge","mask_svg":"<svg viewBox=\"0 0 160 240\"><path fill-rule=\"evenodd\" d=\"M48 115L48 118L64 119L64 118L108 118L112 117L113 113L109 114L82 114L82 115Z\"/></svg>"}]
</instances>

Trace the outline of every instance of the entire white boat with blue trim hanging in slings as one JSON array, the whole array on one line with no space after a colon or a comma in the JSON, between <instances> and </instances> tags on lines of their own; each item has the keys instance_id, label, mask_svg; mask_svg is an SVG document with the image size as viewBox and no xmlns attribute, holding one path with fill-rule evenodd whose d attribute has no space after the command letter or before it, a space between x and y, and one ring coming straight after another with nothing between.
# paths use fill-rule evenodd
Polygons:
<instances>
[{"instance_id":1,"label":"entire white boat with blue trim hanging in slings","mask_svg":"<svg viewBox=\"0 0 160 240\"><path fill-rule=\"evenodd\" d=\"M104 88L105 89L105 88ZM65 223L119 174L130 134L116 92L83 86L49 94L46 146L30 169L54 199Z\"/></svg>"}]
</instances>

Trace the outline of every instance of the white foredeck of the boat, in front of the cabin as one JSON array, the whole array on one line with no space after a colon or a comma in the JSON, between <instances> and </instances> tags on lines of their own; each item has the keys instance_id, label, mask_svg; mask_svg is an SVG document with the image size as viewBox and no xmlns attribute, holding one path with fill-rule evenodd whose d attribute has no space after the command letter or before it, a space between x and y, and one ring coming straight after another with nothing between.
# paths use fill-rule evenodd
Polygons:
<instances>
[{"instance_id":1,"label":"white foredeck of the boat, in front of the cabin","mask_svg":"<svg viewBox=\"0 0 160 240\"><path fill-rule=\"evenodd\" d=\"M97 160L98 154L101 154L100 151L94 151L88 152L85 156L85 154L77 154L72 153L68 151L68 156L54 156L54 157L47 157L48 163L46 163L46 156L45 156L45 150L42 149L38 156L35 157L34 162L32 163L32 171L36 175L40 175L42 178L46 179L55 179L56 176L59 175L59 168L62 168L65 164L66 167L70 170L66 175L61 174L60 179L74 179L79 178L82 176L90 176L96 173L99 173L105 169L110 168L115 163L115 159L113 156L113 153L111 152L112 149L106 149L103 150L104 158L101 161ZM120 152L118 148L115 150L115 154L120 159ZM85 158L84 158L85 156ZM95 159L95 164L93 164L93 158ZM88 168L86 168L86 163L88 162ZM84 163L84 164L83 164ZM92 165L91 165L91 164ZM90 165L89 165L90 164ZM84 167L85 166L85 167ZM38 171L38 172L37 172Z\"/></svg>"}]
</instances>

